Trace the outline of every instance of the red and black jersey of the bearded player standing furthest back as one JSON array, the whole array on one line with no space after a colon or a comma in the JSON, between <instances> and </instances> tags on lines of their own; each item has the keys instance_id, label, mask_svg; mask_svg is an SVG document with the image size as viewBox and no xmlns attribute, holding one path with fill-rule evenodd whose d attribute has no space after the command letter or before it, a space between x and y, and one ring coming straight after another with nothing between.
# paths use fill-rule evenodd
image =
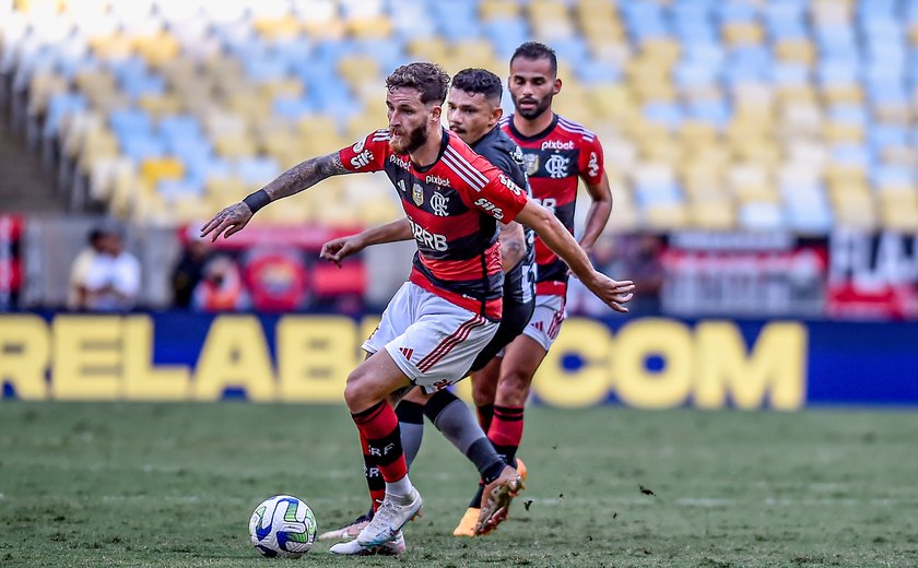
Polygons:
<instances>
[{"instance_id":1,"label":"red and black jersey of the bearded player standing furthest back","mask_svg":"<svg viewBox=\"0 0 918 568\"><path fill-rule=\"evenodd\" d=\"M522 149L532 198L574 234L577 178L597 185L604 159L599 139L577 122L554 115L552 123L536 135L525 137L514 127L514 115L501 120L510 139ZM536 238L536 292L563 296L567 292L567 264L540 238Z\"/></svg>"}]
</instances>

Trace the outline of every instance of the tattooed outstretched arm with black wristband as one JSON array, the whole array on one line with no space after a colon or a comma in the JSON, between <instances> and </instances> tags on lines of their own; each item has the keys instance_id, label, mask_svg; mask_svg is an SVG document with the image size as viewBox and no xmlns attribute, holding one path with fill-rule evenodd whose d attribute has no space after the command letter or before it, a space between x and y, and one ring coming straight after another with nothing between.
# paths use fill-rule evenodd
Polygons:
<instances>
[{"instance_id":1,"label":"tattooed outstretched arm with black wristband","mask_svg":"<svg viewBox=\"0 0 918 568\"><path fill-rule=\"evenodd\" d=\"M341 165L341 158L337 152L302 162L243 201L214 215L201 227L201 237L212 234L211 240L216 240L221 234L224 234L224 237L228 238L242 230L251 216L268 203L299 193L331 176L348 173L349 170Z\"/></svg>"}]
</instances>

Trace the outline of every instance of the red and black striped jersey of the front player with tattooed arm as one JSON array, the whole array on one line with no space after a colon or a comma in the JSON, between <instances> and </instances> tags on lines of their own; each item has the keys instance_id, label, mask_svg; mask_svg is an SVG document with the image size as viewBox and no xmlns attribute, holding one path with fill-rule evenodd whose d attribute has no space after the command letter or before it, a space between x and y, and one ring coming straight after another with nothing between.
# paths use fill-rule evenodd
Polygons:
<instances>
[{"instance_id":1,"label":"red and black striped jersey of the front player with tattooed arm","mask_svg":"<svg viewBox=\"0 0 918 568\"><path fill-rule=\"evenodd\" d=\"M497 221L513 221L526 205L526 192L447 130L428 166L392 152L387 130L340 150L339 157L351 171L385 171L398 190L417 242L411 282L499 320L504 273Z\"/></svg>"}]
</instances>

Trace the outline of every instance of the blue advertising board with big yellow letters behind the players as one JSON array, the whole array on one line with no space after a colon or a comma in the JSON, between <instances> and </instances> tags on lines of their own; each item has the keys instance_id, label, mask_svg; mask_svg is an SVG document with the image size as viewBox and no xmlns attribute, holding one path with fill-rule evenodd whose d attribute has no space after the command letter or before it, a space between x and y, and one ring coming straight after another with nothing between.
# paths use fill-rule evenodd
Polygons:
<instances>
[{"instance_id":1,"label":"blue advertising board with big yellow letters behind the players","mask_svg":"<svg viewBox=\"0 0 918 568\"><path fill-rule=\"evenodd\" d=\"M0 316L3 398L341 403L378 317ZM468 381L456 387L468 395ZM533 382L584 407L918 404L918 323L572 318Z\"/></svg>"}]
</instances>

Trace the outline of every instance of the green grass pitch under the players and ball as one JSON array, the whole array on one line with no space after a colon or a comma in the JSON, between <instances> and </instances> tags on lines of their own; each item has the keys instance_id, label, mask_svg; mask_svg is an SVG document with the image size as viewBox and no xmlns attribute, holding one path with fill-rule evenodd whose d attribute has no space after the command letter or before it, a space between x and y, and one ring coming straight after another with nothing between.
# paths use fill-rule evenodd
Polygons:
<instances>
[{"instance_id":1,"label":"green grass pitch under the players and ball","mask_svg":"<svg viewBox=\"0 0 918 568\"><path fill-rule=\"evenodd\" d=\"M474 471L428 425L405 556L280 563L918 566L918 413L532 407L520 455L510 521L456 539ZM247 523L275 493L320 531L366 507L343 406L0 403L4 568L269 566Z\"/></svg>"}]
</instances>

